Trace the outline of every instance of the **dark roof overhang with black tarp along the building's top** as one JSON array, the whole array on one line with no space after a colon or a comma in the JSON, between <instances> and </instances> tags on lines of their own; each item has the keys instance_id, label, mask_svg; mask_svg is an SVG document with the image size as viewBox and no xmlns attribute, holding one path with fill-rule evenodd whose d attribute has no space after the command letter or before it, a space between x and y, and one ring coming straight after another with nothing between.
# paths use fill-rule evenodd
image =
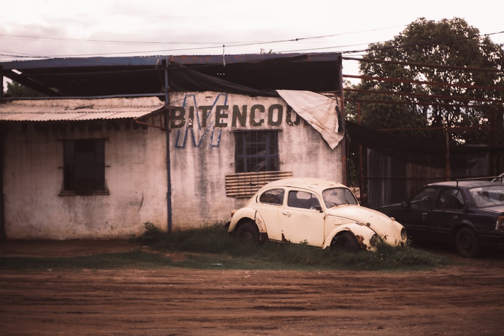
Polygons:
<instances>
[{"instance_id":1,"label":"dark roof overhang with black tarp along the building's top","mask_svg":"<svg viewBox=\"0 0 504 336\"><path fill-rule=\"evenodd\" d=\"M273 90L335 92L341 54L51 58L0 62L4 77L53 97L159 95L169 90L277 96Z\"/></svg>"}]
</instances>

